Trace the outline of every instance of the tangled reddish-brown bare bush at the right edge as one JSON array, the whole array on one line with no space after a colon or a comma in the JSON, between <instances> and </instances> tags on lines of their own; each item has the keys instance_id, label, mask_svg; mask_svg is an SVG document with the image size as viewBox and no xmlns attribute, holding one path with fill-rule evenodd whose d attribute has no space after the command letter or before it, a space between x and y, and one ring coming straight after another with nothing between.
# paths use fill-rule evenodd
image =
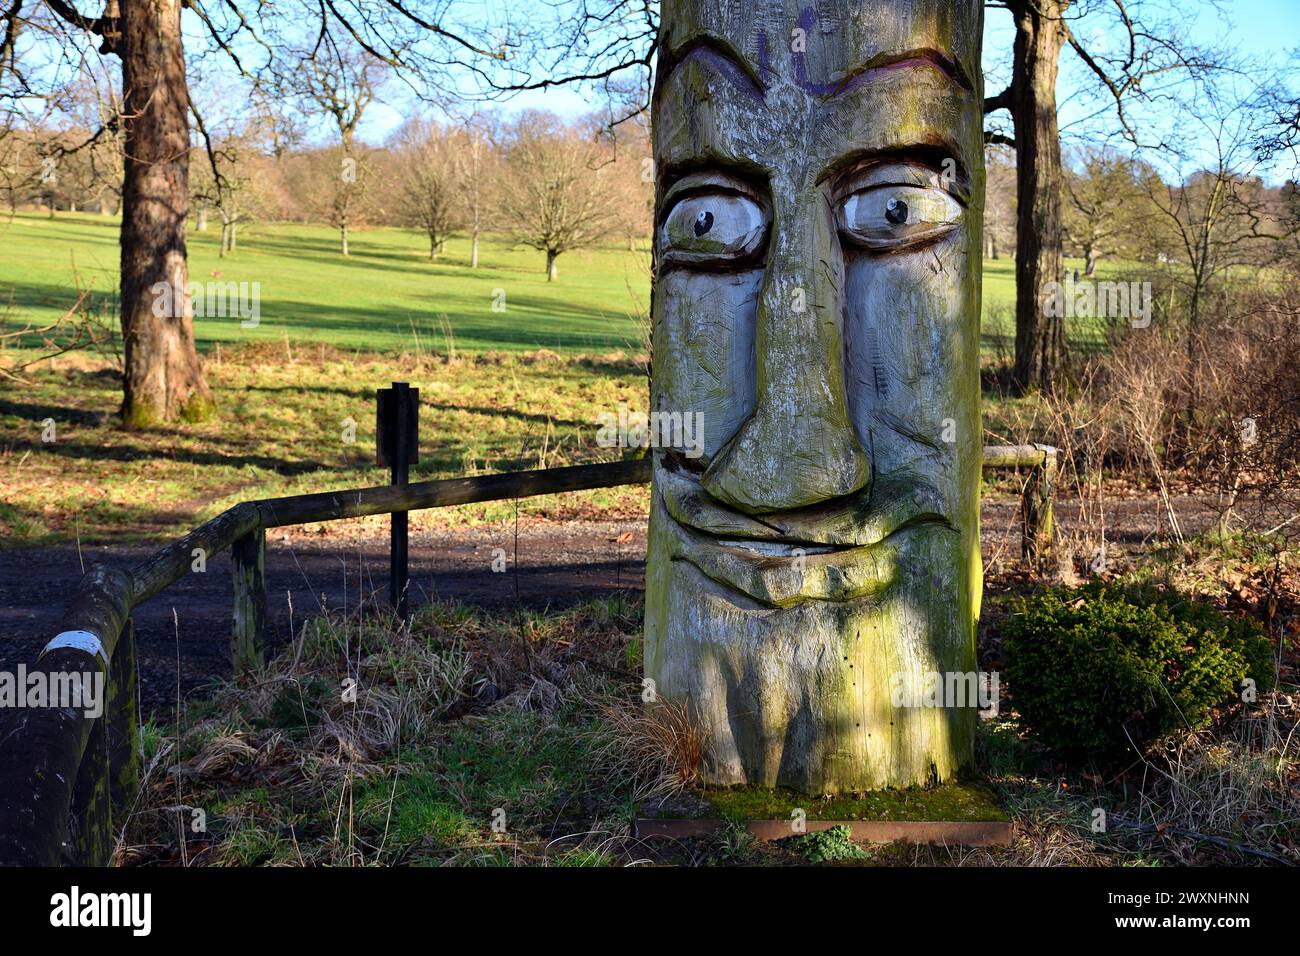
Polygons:
<instances>
[{"instance_id":1,"label":"tangled reddish-brown bare bush at the right edge","mask_svg":"<svg viewBox=\"0 0 1300 956\"><path fill-rule=\"evenodd\" d=\"M1223 531L1300 532L1288 520L1300 507L1294 289L1294 280L1261 272L1216 289L1196 325L1114 332L1112 349L1082 369L1080 395L1053 403L1053 440L1078 445L1091 433L1087 442L1101 453L1083 467L1149 479L1175 540L1175 483L1216 496Z\"/></svg>"}]
</instances>

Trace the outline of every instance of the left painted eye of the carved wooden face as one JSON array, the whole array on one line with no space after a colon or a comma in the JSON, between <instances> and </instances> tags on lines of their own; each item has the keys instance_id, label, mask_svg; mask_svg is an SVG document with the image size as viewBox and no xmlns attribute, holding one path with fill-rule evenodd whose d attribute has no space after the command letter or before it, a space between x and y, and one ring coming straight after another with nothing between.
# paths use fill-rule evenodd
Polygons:
<instances>
[{"instance_id":1,"label":"left painted eye of the carved wooden face","mask_svg":"<svg viewBox=\"0 0 1300 956\"><path fill-rule=\"evenodd\" d=\"M731 263L751 259L767 237L767 213L738 193L697 193L680 199L663 221L666 261Z\"/></svg>"}]
</instances>

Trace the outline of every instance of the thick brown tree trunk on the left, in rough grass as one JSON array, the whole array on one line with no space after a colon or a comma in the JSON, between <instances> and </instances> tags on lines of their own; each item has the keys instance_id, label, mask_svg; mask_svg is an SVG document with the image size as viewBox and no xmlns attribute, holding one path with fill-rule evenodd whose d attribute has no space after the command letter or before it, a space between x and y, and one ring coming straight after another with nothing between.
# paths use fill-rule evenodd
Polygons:
<instances>
[{"instance_id":1,"label":"thick brown tree trunk on the left, in rough grass","mask_svg":"<svg viewBox=\"0 0 1300 956\"><path fill-rule=\"evenodd\" d=\"M129 428L177 418L199 420L212 408L194 347L186 284L190 94L181 43L181 4L122 4L122 90L126 117L122 176L122 420ZM169 308L156 308L168 289Z\"/></svg>"}]
</instances>

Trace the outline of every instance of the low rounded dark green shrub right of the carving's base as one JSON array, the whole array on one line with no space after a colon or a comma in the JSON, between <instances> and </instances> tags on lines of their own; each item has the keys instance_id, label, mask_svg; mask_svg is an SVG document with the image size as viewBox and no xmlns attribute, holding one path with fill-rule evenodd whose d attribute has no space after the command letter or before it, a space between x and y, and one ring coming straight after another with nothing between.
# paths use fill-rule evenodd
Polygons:
<instances>
[{"instance_id":1,"label":"low rounded dark green shrub right of the carving's base","mask_svg":"<svg viewBox=\"0 0 1300 956\"><path fill-rule=\"evenodd\" d=\"M1253 678L1273 685L1273 649L1253 620L1175 591L1092 584L1015 605L1004 628L1011 702L1066 756L1115 757L1210 710Z\"/></svg>"}]
</instances>

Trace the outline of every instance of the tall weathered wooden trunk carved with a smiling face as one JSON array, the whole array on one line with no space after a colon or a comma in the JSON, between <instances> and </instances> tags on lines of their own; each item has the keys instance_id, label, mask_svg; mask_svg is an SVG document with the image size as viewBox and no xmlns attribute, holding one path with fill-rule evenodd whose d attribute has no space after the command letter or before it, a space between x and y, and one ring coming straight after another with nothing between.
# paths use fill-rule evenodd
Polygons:
<instances>
[{"instance_id":1,"label":"tall weathered wooden trunk carved with a smiling face","mask_svg":"<svg viewBox=\"0 0 1300 956\"><path fill-rule=\"evenodd\" d=\"M980 17L664 4L651 405L703 441L655 453L646 669L715 782L905 786L968 753L972 714L888 698L974 669Z\"/></svg>"}]
</instances>

